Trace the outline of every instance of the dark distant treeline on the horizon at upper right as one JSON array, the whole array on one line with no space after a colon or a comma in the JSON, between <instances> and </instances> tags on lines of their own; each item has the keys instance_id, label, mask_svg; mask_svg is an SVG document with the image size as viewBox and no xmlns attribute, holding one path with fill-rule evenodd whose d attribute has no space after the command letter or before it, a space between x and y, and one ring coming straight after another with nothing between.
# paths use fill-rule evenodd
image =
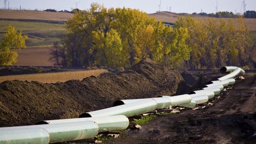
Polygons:
<instances>
[{"instance_id":1,"label":"dark distant treeline on the horizon at upper right","mask_svg":"<svg viewBox=\"0 0 256 144\"><path fill-rule=\"evenodd\" d=\"M201 15L201 16L206 16L206 17L215 17L215 18L239 18L241 15L234 14L233 12L228 12L228 11L220 11L217 12L216 14L207 14L206 12L201 12L197 14L196 12L193 13L193 15ZM244 18L256 18L256 11L246 11L244 13Z\"/></svg>"}]
</instances>

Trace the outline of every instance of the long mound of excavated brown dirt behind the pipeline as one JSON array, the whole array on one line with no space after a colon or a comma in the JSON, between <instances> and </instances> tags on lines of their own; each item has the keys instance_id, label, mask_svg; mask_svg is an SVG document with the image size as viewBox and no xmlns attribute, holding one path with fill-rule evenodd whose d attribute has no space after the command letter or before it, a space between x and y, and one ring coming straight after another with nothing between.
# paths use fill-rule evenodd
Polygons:
<instances>
[{"instance_id":1,"label":"long mound of excavated brown dirt behind the pipeline","mask_svg":"<svg viewBox=\"0 0 256 144\"><path fill-rule=\"evenodd\" d=\"M0 126L75 118L87 111L111 107L117 99L173 95L187 88L179 72L150 59L142 60L129 71L82 81L5 81L0 84Z\"/></svg>"}]
</instances>

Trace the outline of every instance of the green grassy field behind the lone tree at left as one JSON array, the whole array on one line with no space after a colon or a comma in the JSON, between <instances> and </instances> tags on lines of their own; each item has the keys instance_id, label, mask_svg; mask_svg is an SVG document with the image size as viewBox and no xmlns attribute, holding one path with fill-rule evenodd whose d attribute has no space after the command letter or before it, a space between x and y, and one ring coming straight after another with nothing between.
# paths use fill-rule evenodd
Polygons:
<instances>
[{"instance_id":1,"label":"green grassy field behind the lone tree at left","mask_svg":"<svg viewBox=\"0 0 256 144\"><path fill-rule=\"evenodd\" d=\"M0 39L4 36L5 27L14 25L17 30L22 30L28 35L28 47L52 47L55 41L60 41L66 33L63 24L33 23L23 21L0 20Z\"/></svg>"}]
</instances>

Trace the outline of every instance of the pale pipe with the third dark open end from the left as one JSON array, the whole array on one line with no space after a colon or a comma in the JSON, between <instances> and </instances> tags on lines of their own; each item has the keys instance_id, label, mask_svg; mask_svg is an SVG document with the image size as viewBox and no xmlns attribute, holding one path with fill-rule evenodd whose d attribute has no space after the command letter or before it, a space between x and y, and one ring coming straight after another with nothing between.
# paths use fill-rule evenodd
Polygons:
<instances>
[{"instance_id":1,"label":"pale pipe with the third dark open end from the left","mask_svg":"<svg viewBox=\"0 0 256 144\"><path fill-rule=\"evenodd\" d=\"M130 100L117 100L113 103L113 106L123 105L123 104L130 104L140 101L143 103L144 100L153 99L156 101L157 106L156 108L167 108L171 105L171 100L167 97L158 97L158 98L139 98L139 99L130 99Z\"/></svg>"}]
</instances>

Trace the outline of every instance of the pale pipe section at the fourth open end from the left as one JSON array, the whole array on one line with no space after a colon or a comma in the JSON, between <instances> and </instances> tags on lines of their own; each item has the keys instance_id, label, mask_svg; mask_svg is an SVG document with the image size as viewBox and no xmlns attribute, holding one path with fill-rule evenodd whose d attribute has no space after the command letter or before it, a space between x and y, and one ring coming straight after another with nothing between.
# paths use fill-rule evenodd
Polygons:
<instances>
[{"instance_id":1,"label":"pale pipe section at the fourth open end from the left","mask_svg":"<svg viewBox=\"0 0 256 144\"><path fill-rule=\"evenodd\" d=\"M175 96L167 96L167 95L162 95L161 97L167 97L169 100L171 100L171 106L175 107L181 104L187 104L190 103L191 97L188 94L184 95L175 95Z\"/></svg>"}]
</instances>

